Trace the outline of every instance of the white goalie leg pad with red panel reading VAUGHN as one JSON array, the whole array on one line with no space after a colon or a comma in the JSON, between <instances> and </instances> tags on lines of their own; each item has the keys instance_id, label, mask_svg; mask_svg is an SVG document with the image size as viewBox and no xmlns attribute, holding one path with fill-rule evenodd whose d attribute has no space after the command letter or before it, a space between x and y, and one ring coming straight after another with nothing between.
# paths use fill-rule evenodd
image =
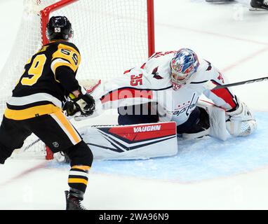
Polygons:
<instances>
[{"instance_id":1,"label":"white goalie leg pad with red panel reading VAUGHN","mask_svg":"<svg viewBox=\"0 0 268 224\"><path fill-rule=\"evenodd\" d=\"M83 127L96 160L138 160L177 154L176 123Z\"/></svg>"}]
</instances>

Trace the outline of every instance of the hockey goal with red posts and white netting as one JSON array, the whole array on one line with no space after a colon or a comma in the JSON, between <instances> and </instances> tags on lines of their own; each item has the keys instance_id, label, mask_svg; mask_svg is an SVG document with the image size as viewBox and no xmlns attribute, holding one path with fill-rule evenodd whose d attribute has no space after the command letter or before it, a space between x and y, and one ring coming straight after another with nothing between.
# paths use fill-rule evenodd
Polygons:
<instances>
[{"instance_id":1,"label":"hockey goal with red posts and white netting","mask_svg":"<svg viewBox=\"0 0 268 224\"><path fill-rule=\"evenodd\" d=\"M46 24L53 15L65 15L72 23L70 42L81 52L78 80L121 76L154 53L154 0L24 0L23 4L20 28L1 71L1 118L25 63L48 43ZM36 139L32 134L23 146L30 147L13 154L46 155Z\"/></svg>"}]
</instances>

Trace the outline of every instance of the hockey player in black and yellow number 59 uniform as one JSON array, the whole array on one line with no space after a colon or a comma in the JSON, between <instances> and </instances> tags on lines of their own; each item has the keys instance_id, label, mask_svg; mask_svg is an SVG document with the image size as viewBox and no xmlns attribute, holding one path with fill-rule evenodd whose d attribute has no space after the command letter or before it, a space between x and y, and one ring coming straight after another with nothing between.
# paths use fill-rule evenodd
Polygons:
<instances>
[{"instance_id":1,"label":"hockey player in black and yellow number 59 uniform","mask_svg":"<svg viewBox=\"0 0 268 224\"><path fill-rule=\"evenodd\" d=\"M70 189L65 191L66 209L81 210L93 154L62 113L62 106L72 94L76 110L89 116L95 101L91 95L83 94L76 80L81 56L76 45L68 42L72 34L66 17L49 20L49 43L28 60L7 102L0 127L0 163L4 164L16 148L21 148L30 134L36 134L53 153L62 151L68 155L71 169Z\"/></svg>"}]
</instances>

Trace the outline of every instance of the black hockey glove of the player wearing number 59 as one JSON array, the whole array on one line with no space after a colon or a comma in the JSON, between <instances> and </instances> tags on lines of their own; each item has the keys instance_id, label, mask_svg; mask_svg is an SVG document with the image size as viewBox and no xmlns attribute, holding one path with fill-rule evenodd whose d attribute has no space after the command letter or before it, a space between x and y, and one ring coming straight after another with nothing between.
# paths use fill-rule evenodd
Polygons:
<instances>
[{"instance_id":1,"label":"black hockey glove of the player wearing number 59","mask_svg":"<svg viewBox=\"0 0 268 224\"><path fill-rule=\"evenodd\" d=\"M77 117L83 116L88 117L91 116L95 110L95 100L91 97L90 94L79 94L78 97L74 98L70 97L65 105L63 106L63 111L66 111L67 116L74 116L76 113L80 112Z\"/></svg>"}]
</instances>

